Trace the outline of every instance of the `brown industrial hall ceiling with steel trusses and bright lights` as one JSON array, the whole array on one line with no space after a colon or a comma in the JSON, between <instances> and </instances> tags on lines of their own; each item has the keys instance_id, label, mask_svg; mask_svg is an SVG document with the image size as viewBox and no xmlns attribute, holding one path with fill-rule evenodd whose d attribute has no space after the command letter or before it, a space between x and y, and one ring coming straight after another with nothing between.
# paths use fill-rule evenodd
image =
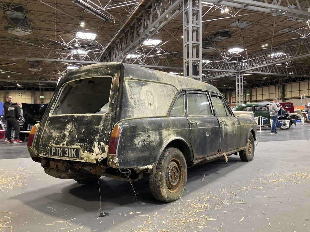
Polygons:
<instances>
[{"instance_id":1,"label":"brown industrial hall ceiling with steel trusses and bright lights","mask_svg":"<svg viewBox=\"0 0 310 232\"><path fill-rule=\"evenodd\" d=\"M181 0L0 3L0 89L54 90L66 72L125 62L183 75ZM201 1L203 81L221 90L310 77L310 4ZM232 50L231 50L232 49Z\"/></svg>"}]
</instances>

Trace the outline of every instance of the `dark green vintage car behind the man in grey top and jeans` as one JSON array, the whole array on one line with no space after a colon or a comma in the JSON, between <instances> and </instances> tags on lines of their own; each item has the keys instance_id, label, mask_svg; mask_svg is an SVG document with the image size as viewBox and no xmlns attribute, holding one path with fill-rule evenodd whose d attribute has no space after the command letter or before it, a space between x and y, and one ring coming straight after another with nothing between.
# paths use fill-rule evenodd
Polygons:
<instances>
[{"instance_id":1,"label":"dark green vintage car behind the man in grey top and jeans","mask_svg":"<svg viewBox=\"0 0 310 232\"><path fill-rule=\"evenodd\" d=\"M269 106L264 103L249 103L249 104L242 104L238 105L236 108L236 111L252 111L254 113L254 117L263 117L263 118L268 118L270 119L270 114L269 114ZM282 125L280 127L281 130L287 130L290 128L290 126L294 123L293 119L289 117L289 114L287 111L282 110L282 114L278 116L278 120L282 121ZM259 118L258 125L263 124L264 126L270 126L270 120L265 121L262 123L261 118ZM287 123L287 120L290 120L290 123Z\"/></svg>"}]
</instances>

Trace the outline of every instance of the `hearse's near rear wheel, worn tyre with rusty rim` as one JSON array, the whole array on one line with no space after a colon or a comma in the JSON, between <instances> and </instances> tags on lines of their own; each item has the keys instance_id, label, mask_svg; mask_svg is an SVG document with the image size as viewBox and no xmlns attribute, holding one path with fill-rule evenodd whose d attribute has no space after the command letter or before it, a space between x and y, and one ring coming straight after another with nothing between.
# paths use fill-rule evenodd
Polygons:
<instances>
[{"instance_id":1,"label":"hearse's near rear wheel, worn tyre with rusty rim","mask_svg":"<svg viewBox=\"0 0 310 232\"><path fill-rule=\"evenodd\" d=\"M183 153L177 148L166 148L156 165L155 174L149 175L153 197L172 202L181 197L187 181L187 165Z\"/></svg>"}]
</instances>

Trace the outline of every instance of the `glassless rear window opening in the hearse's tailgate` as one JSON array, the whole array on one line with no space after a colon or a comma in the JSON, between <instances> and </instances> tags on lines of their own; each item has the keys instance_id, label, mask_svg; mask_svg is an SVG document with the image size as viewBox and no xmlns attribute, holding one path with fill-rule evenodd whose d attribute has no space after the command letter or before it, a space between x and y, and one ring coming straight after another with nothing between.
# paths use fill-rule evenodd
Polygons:
<instances>
[{"instance_id":1,"label":"glassless rear window opening in the hearse's tailgate","mask_svg":"<svg viewBox=\"0 0 310 232\"><path fill-rule=\"evenodd\" d=\"M91 77L64 84L52 115L105 114L109 108L112 77Z\"/></svg>"}]
</instances>

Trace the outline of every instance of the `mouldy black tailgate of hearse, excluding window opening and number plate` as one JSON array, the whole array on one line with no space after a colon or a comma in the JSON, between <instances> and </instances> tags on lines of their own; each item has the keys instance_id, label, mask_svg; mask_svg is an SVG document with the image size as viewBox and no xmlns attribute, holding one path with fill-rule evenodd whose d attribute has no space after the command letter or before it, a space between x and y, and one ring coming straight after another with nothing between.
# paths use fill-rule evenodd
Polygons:
<instances>
[{"instance_id":1,"label":"mouldy black tailgate of hearse, excluding window opening and number plate","mask_svg":"<svg viewBox=\"0 0 310 232\"><path fill-rule=\"evenodd\" d=\"M50 157L50 147L59 146L80 148L80 158L76 161L93 163L107 157L110 133L114 126L120 70L120 63L96 64L70 72L61 79L41 121L34 145L36 155ZM65 83L85 77L101 76L112 77L110 104L105 114L52 115L55 102L59 102L57 98L61 87ZM82 101L80 103L83 104ZM59 158L73 160L69 157Z\"/></svg>"}]
</instances>

